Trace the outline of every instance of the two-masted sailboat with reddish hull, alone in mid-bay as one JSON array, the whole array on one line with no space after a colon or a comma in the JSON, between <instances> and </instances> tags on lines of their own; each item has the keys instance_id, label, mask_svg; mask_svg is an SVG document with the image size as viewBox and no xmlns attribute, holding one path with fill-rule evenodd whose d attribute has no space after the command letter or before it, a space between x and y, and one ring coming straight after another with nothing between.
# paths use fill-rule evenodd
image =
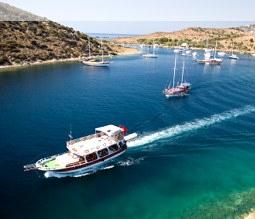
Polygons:
<instances>
[{"instance_id":1,"label":"two-masted sailboat with reddish hull, alone in mid-bay","mask_svg":"<svg viewBox=\"0 0 255 219\"><path fill-rule=\"evenodd\" d=\"M171 84L169 83L168 87L163 90L163 94L167 98L169 97L182 97L187 95L191 88L191 84L184 81L184 70L185 69L185 62L183 61L182 66L182 77L181 77L181 83L177 86L175 86L175 75L176 75L176 58L174 61L174 74L173 74L173 86L171 87Z\"/></svg>"}]
</instances>

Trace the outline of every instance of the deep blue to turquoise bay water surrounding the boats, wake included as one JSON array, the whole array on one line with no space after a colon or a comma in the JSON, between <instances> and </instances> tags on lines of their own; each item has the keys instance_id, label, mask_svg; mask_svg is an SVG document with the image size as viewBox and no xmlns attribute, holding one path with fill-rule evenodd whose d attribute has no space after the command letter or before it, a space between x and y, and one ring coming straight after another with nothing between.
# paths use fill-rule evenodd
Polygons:
<instances>
[{"instance_id":1,"label":"deep blue to turquoise bay water surrounding the boats, wake included","mask_svg":"<svg viewBox=\"0 0 255 219\"><path fill-rule=\"evenodd\" d=\"M0 71L1 218L237 218L255 207L255 57L183 60L190 95L166 99L173 50ZM202 56L201 51L199 52ZM23 165L96 127L138 138L114 162L60 177Z\"/></svg>"}]
</instances>

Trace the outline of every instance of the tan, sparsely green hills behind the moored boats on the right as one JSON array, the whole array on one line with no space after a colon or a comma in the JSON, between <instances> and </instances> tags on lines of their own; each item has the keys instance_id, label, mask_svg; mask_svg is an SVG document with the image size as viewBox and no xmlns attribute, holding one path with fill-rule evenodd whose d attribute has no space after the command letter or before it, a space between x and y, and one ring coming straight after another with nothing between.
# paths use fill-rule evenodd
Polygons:
<instances>
[{"instance_id":1,"label":"tan, sparsely green hills behind the moored boats on the right","mask_svg":"<svg viewBox=\"0 0 255 219\"><path fill-rule=\"evenodd\" d=\"M248 26L246 26L248 27ZM254 25L249 25L249 30ZM175 47L188 43L195 48L214 48L216 41L218 49L228 51L234 47L236 51L255 52L255 32L244 28L187 28L176 32L157 32L144 36L119 38L115 43L138 43Z\"/></svg>"}]
</instances>

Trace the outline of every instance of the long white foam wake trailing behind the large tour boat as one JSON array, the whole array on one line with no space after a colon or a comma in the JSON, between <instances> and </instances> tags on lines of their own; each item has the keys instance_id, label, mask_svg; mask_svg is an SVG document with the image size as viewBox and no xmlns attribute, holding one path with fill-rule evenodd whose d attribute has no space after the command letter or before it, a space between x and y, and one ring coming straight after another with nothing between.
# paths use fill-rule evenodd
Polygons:
<instances>
[{"instance_id":1,"label":"long white foam wake trailing behind the large tour boat","mask_svg":"<svg viewBox=\"0 0 255 219\"><path fill-rule=\"evenodd\" d=\"M203 127L207 127L207 126L210 126L210 125L213 125L216 123L220 123L225 120L230 120L230 119L233 119L238 116L242 116L242 115L245 115L245 114L248 114L251 112L255 112L255 107L245 106L243 108L233 109L233 110L221 113L221 114L215 114L208 118L197 119L192 122L187 122L183 125L176 125L174 127L171 127L171 128L159 131L159 132L146 134L134 141L129 142L128 147L141 146L141 145L145 145L145 144L148 144L153 141L160 140L160 139L174 137L174 136L183 134L185 132L201 129Z\"/></svg>"}]
</instances>

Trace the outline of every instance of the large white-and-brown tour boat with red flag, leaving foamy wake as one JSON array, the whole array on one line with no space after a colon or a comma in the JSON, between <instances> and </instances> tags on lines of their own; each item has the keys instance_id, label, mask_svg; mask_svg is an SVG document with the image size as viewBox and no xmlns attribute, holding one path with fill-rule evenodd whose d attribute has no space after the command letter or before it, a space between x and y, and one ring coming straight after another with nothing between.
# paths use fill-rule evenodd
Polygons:
<instances>
[{"instance_id":1,"label":"large white-and-brown tour boat with red flag, leaving foamy wake","mask_svg":"<svg viewBox=\"0 0 255 219\"><path fill-rule=\"evenodd\" d=\"M70 139L67 152L42 158L24 166L24 171L41 170L56 173L89 172L96 166L112 160L127 150L127 141L137 134L126 135L124 126L107 125L95 129L95 134Z\"/></svg>"}]
</instances>

